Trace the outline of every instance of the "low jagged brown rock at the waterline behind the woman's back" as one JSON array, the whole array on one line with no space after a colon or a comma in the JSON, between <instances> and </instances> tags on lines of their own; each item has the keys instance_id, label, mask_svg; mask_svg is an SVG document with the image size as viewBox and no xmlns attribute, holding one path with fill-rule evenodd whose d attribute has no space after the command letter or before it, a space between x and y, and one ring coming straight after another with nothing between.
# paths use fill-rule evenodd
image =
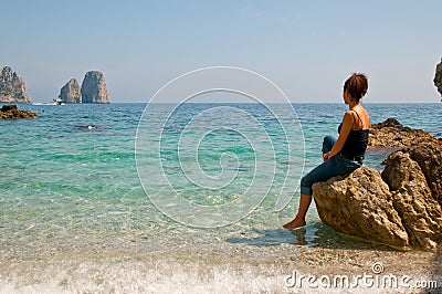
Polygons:
<instances>
[{"instance_id":1,"label":"low jagged brown rock at the waterline behind the woman's back","mask_svg":"<svg viewBox=\"0 0 442 294\"><path fill-rule=\"evenodd\" d=\"M368 147L410 147L423 143L440 147L442 141L422 129L412 129L394 118L388 118L371 125Z\"/></svg>"}]
</instances>

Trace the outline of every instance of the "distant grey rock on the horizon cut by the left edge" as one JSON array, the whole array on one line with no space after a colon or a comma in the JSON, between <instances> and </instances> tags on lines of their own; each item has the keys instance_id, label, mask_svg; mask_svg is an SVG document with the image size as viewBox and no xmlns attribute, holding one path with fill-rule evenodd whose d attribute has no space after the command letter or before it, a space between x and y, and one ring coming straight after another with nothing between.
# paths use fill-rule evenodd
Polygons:
<instances>
[{"instance_id":1,"label":"distant grey rock on the horizon cut by the left edge","mask_svg":"<svg viewBox=\"0 0 442 294\"><path fill-rule=\"evenodd\" d=\"M19 77L9 66L1 69L0 102L32 103L24 80Z\"/></svg>"}]
</instances>

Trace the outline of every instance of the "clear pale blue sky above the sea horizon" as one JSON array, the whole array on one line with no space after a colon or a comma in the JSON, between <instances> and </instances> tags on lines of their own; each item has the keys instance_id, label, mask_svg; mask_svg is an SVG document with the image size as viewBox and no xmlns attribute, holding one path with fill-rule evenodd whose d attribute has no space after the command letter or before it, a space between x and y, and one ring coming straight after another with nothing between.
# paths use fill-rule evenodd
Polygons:
<instances>
[{"instance_id":1,"label":"clear pale blue sky above the sea horizon","mask_svg":"<svg viewBox=\"0 0 442 294\"><path fill-rule=\"evenodd\" d=\"M341 102L352 72L367 102L438 102L442 1L1 1L0 65L34 102L105 75L110 102L147 102L200 67L257 72L293 102Z\"/></svg>"}]
</instances>

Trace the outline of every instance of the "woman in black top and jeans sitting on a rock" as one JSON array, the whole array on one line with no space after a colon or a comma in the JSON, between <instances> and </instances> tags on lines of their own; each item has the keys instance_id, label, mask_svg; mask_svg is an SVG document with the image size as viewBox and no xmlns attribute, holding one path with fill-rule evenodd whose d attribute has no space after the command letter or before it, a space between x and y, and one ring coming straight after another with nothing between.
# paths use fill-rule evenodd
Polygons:
<instances>
[{"instance_id":1,"label":"woman in black top and jeans sitting on a rock","mask_svg":"<svg viewBox=\"0 0 442 294\"><path fill-rule=\"evenodd\" d=\"M305 214L312 202L312 186L317 181L325 181L332 177L349 174L362 165L368 144L370 118L367 111L360 105L360 99L368 88L367 77L364 74L352 74L344 84L344 102L349 111L344 115L339 125L339 137L324 138L324 162L314 168L301 180L301 200L296 217L283 227L287 230L305 225Z\"/></svg>"}]
</instances>

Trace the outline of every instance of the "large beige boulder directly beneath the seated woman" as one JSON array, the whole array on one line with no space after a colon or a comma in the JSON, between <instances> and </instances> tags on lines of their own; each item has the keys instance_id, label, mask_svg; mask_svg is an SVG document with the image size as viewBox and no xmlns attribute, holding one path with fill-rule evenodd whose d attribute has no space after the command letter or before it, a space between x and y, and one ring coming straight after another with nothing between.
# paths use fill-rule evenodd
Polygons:
<instances>
[{"instance_id":1,"label":"large beige boulder directly beneath the seated woman","mask_svg":"<svg viewBox=\"0 0 442 294\"><path fill-rule=\"evenodd\" d=\"M334 230L391 246L409 245L409 237L380 172L360 167L348 177L313 185L319 218Z\"/></svg>"}]
</instances>

